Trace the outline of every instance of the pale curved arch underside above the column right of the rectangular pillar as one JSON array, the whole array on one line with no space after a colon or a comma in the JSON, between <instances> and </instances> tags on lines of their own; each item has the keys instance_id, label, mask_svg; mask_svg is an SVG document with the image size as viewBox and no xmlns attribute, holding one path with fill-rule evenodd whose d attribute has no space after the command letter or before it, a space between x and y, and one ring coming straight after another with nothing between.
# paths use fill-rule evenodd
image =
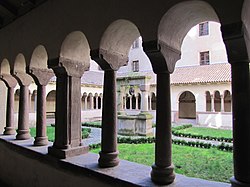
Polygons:
<instances>
[{"instance_id":1,"label":"pale curved arch underside above the column right of the rectangular pillar","mask_svg":"<svg viewBox=\"0 0 250 187\"><path fill-rule=\"evenodd\" d=\"M118 70L119 67L127 65L130 47L139 36L140 32L135 24L124 19L116 20L102 36L100 54L112 69Z\"/></svg>"}]
</instances>

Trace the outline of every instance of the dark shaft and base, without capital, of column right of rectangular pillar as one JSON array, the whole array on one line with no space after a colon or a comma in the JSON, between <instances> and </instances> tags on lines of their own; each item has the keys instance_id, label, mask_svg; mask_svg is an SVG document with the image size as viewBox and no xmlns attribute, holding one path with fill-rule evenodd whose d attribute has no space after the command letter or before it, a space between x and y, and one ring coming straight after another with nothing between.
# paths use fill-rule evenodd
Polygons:
<instances>
[{"instance_id":1,"label":"dark shaft and base, without capital, of column right of rectangular pillar","mask_svg":"<svg viewBox=\"0 0 250 187\"><path fill-rule=\"evenodd\" d=\"M116 72L105 70L102 109L102 145L100 167L112 167L119 163L117 150Z\"/></svg>"}]
</instances>

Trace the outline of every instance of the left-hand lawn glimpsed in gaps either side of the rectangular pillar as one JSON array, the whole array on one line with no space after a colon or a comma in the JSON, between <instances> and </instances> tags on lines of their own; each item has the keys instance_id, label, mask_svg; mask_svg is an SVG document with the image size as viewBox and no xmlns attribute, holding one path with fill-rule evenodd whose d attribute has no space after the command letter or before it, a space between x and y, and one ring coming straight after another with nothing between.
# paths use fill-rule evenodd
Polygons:
<instances>
[{"instance_id":1,"label":"left-hand lawn glimpsed in gaps either side of the rectangular pillar","mask_svg":"<svg viewBox=\"0 0 250 187\"><path fill-rule=\"evenodd\" d=\"M87 138L89 136L91 129L90 128L82 128L82 138ZM36 136L36 128L30 128L30 134L32 137ZM55 140L55 127L47 126L47 136L49 141L54 142Z\"/></svg>"}]
</instances>

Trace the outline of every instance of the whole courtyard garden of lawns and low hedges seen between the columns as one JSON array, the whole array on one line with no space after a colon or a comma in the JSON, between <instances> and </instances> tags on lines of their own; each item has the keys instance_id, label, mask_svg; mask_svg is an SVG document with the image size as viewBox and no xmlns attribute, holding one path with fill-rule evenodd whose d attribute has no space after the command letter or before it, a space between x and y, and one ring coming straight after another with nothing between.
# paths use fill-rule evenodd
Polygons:
<instances>
[{"instance_id":1,"label":"whole courtyard garden of lawns and low hedges seen between the columns","mask_svg":"<svg viewBox=\"0 0 250 187\"><path fill-rule=\"evenodd\" d=\"M100 122L84 123L83 138ZM31 128L35 136L35 128ZM232 131L194 127L172 128L172 159L175 172L189 177L229 182L233 176ZM54 126L47 127L49 141L54 141ZM119 158L151 166L154 163L154 137L118 136ZM214 144L213 142L216 142ZM100 143L90 145L91 152L100 151Z\"/></svg>"}]
</instances>

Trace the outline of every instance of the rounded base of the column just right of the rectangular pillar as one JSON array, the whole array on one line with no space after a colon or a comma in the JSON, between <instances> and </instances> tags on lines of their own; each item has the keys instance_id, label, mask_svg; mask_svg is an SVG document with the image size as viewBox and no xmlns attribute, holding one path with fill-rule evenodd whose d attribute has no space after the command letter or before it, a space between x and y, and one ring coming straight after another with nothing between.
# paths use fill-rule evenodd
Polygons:
<instances>
[{"instance_id":1,"label":"rounded base of the column just right of the rectangular pillar","mask_svg":"<svg viewBox=\"0 0 250 187\"><path fill-rule=\"evenodd\" d=\"M118 151L112 153L103 153L100 151L100 158L98 159L99 166L101 168L117 166L119 164L118 154Z\"/></svg>"}]
</instances>

